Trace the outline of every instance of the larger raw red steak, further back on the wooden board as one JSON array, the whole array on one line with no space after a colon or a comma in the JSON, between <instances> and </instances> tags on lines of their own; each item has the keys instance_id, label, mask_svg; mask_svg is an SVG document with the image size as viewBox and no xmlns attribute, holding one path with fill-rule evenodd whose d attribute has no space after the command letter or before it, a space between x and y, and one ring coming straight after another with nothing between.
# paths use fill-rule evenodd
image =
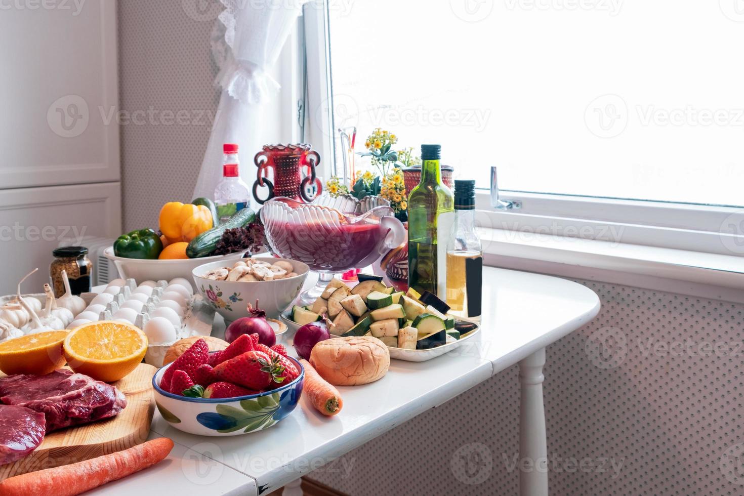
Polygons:
<instances>
[{"instance_id":1,"label":"larger raw red steak, further back on the wooden board","mask_svg":"<svg viewBox=\"0 0 744 496\"><path fill-rule=\"evenodd\" d=\"M0 401L44 413L47 432L106 419L126 407L124 395L112 385L65 369L0 378Z\"/></svg>"}]
</instances>

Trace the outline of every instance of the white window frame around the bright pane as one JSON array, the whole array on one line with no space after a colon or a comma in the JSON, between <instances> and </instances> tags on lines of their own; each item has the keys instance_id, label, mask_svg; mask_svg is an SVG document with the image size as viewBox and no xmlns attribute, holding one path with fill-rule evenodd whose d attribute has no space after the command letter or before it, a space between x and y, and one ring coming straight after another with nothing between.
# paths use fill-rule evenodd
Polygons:
<instances>
[{"instance_id":1,"label":"white window frame around the bright pane","mask_svg":"<svg viewBox=\"0 0 744 496\"><path fill-rule=\"evenodd\" d=\"M336 129L330 115L333 93L326 5L327 0L311 0L304 7L302 22L307 59L304 137L325 158L321 174L327 177L340 174L333 169ZM483 227L711 254L744 254L744 208L740 207L511 190L501 190L500 197L519 200L522 207L496 210L490 204L489 191L478 190L478 219Z\"/></svg>"}]
</instances>

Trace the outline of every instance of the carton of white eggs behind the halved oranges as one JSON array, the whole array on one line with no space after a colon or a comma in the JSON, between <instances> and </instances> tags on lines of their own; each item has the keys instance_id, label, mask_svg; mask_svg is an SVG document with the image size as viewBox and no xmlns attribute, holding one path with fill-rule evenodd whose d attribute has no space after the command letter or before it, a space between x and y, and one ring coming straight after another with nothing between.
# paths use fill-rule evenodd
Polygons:
<instances>
[{"instance_id":1,"label":"carton of white eggs behind the halved oranges","mask_svg":"<svg viewBox=\"0 0 744 496\"><path fill-rule=\"evenodd\" d=\"M173 343L190 336L210 335L214 321L214 308L201 295L190 294L190 285L187 289L180 285L189 293L187 297L173 289L166 291L170 286L166 280L145 281L139 286L134 279L114 280L99 294L81 295L88 306L75 316L68 329L94 320L132 323L144 331L149 341L145 363L161 367Z\"/></svg>"}]
</instances>

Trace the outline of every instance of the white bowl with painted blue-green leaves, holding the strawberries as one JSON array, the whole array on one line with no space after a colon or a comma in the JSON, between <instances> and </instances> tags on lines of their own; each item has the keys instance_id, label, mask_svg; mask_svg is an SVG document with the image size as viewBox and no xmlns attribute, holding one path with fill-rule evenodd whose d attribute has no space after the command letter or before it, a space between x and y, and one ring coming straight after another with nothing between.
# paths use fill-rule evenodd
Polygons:
<instances>
[{"instance_id":1,"label":"white bowl with painted blue-green leaves, holding the strawberries","mask_svg":"<svg viewBox=\"0 0 744 496\"><path fill-rule=\"evenodd\" d=\"M289 358L300 370L300 376L266 393L236 398L187 398L167 393L158 386L170 364L153 376L155 405L161 416L174 428L199 436L237 436L262 431L275 425L295 409L302 395L305 370L294 358Z\"/></svg>"}]
</instances>

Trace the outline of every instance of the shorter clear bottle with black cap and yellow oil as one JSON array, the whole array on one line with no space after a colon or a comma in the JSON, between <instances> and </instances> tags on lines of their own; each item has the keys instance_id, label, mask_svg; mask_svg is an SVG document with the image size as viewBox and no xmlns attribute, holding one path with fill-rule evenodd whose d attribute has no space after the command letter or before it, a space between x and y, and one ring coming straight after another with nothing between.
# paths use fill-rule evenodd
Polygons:
<instances>
[{"instance_id":1,"label":"shorter clear bottle with black cap and yellow oil","mask_svg":"<svg viewBox=\"0 0 744 496\"><path fill-rule=\"evenodd\" d=\"M455 179L455 225L447 240L447 305L452 315L481 320L483 251L475 232L475 181Z\"/></svg>"}]
</instances>

